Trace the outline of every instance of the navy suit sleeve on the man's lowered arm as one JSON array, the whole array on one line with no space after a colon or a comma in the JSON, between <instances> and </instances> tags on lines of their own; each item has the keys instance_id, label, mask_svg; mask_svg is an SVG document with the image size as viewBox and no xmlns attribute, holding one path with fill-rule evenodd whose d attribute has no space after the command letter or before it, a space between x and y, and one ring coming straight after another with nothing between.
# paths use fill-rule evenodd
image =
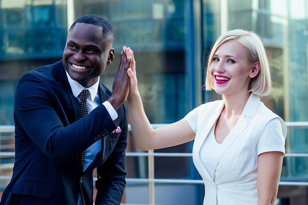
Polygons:
<instances>
[{"instance_id":1,"label":"navy suit sleeve on the man's lowered arm","mask_svg":"<svg viewBox=\"0 0 308 205\"><path fill-rule=\"evenodd\" d=\"M120 205L126 176L126 161L125 161L125 149L127 146L127 118L125 109L123 123L120 124L122 132L118 139L108 139L106 149L112 149L113 151L108 159L97 168L97 181L95 183L97 194L95 205ZM120 116L120 115L119 115ZM114 133L110 134L113 135ZM107 151L107 150L106 150ZM106 152L105 151L105 152Z\"/></svg>"}]
</instances>

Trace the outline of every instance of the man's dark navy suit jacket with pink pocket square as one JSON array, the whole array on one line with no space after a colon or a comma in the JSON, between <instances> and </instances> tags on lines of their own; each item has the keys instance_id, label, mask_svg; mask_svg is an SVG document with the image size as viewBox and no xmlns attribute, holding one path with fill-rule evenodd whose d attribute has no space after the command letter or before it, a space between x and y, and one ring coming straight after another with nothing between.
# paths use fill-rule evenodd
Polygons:
<instances>
[{"instance_id":1,"label":"man's dark navy suit jacket with pink pocket square","mask_svg":"<svg viewBox=\"0 0 308 205\"><path fill-rule=\"evenodd\" d=\"M100 83L99 95L104 102L111 92ZM95 203L120 205L127 119L124 106L117 112L119 117L113 121L99 105L81 118L62 60L24 74L15 93L13 176L0 205L77 205L80 189L86 205L92 205L94 168L98 174ZM112 133L117 126L122 132ZM100 139L98 157L81 173L78 155Z\"/></svg>"}]
</instances>

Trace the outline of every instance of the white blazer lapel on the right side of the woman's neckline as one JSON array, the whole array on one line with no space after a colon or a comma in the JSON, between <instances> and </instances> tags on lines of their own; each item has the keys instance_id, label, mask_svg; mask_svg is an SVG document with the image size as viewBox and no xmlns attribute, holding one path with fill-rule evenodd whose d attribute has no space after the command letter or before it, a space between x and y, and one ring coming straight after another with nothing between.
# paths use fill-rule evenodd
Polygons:
<instances>
[{"instance_id":1,"label":"white blazer lapel on the right side of the woman's neckline","mask_svg":"<svg viewBox=\"0 0 308 205\"><path fill-rule=\"evenodd\" d=\"M221 148L218 150L216 155L214 156L213 163L212 163L212 173L215 172L217 164L224 154L224 152L233 144L233 142L243 133L243 131L248 126L248 122L246 120L246 117L253 117L255 114L255 111L258 107L260 99L254 95L250 94L248 101L245 105L245 108L243 110L242 116L239 118L235 126L232 128L230 133L227 135L227 137L224 139L224 141L221 144ZM214 176L214 175L213 175Z\"/></svg>"}]
</instances>

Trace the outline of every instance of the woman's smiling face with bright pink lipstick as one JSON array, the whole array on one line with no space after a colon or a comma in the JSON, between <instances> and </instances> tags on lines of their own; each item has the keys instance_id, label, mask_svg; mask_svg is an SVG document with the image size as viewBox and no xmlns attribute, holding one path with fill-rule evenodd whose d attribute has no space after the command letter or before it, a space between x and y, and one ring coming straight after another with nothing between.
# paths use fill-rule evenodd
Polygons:
<instances>
[{"instance_id":1,"label":"woman's smiling face with bright pink lipstick","mask_svg":"<svg viewBox=\"0 0 308 205\"><path fill-rule=\"evenodd\" d=\"M246 48L237 40L221 44L211 59L210 73L214 89L223 95L247 93L255 75L255 63L249 64ZM258 71L257 71L258 72Z\"/></svg>"}]
</instances>

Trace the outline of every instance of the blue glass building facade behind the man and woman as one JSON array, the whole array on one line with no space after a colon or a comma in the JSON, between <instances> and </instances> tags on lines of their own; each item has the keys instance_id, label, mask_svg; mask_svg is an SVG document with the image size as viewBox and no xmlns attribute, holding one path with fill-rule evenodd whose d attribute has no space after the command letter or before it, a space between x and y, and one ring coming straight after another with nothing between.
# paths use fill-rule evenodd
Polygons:
<instances>
[{"instance_id":1,"label":"blue glass building facade behind the man and woman","mask_svg":"<svg viewBox=\"0 0 308 205\"><path fill-rule=\"evenodd\" d=\"M0 125L14 124L21 75L62 59L69 26L85 14L106 18L115 30L116 59L100 78L107 87L112 88L123 45L133 49L151 123L174 122L220 99L202 89L207 56L220 33L238 28L255 31L266 47L273 92L262 101L287 122L308 121L308 0L0 0ZM308 129L289 129L286 152L307 154L307 134ZM142 152L132 137L127 151ZM187 143L155 152L191 149ZM147 169L144 157L127 157L127 177L147 177ZM155 157L155 178L200 176L191 158ZM308 158L285 157L281 180L307 182ZM160 205L200 205L204 195L203 184L155 189ZM143 192L142 185L127 183L123 203L147 204ZM279 186L277 204L307 205L307 195L307 186Z\"/></svg>"}]
</instances>

